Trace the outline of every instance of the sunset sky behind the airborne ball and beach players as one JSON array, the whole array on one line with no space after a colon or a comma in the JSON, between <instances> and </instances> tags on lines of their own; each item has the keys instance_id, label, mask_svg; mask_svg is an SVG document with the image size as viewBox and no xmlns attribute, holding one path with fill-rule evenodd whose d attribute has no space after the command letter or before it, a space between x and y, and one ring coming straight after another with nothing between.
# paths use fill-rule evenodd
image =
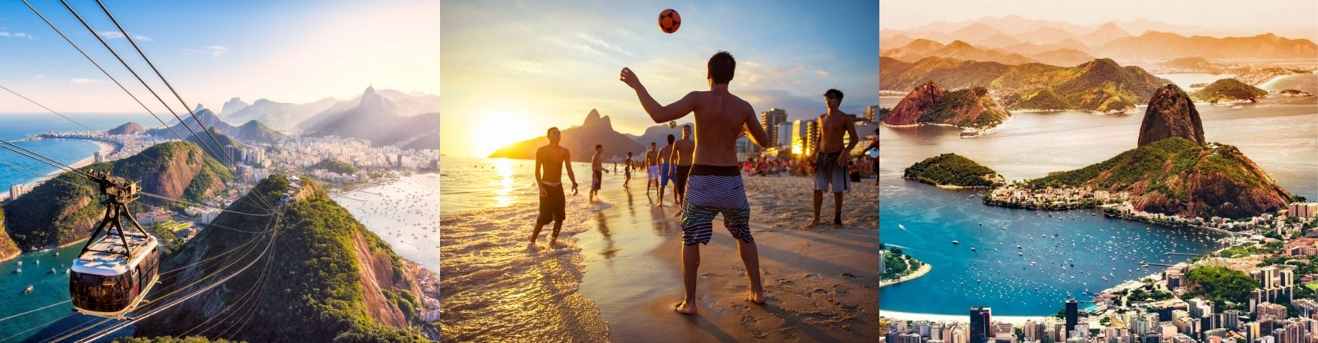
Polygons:
<instances>
[{"instance_id":1,"label":"sunset sky behind the airborne ball and beach players","mask_svg":"<svg viewBox=\"0 0 1318 343\"><path fill-rule=\"evenodd\" d=\"M878 1L445 1L442 153L484 157L500 146L580 125L592 108L616 131L655 125L618 80L637 73L662 104L709 90L705 62L737 58L729 90L755 112L789 119L878 104ZM659 30L676 9L681 28ZM691 121L691 117L679 123Z\"/></svg>"}]
</instances>

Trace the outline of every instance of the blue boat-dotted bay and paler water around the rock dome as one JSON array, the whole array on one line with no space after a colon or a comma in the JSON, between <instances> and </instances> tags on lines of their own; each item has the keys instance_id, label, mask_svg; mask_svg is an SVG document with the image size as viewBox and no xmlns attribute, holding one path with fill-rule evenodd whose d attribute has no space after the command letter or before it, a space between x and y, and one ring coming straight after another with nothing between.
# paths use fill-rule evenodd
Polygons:
<instances>
[{"instance_id":1,"label":"blue boat-dotted bay and paler water around the rock dome","mask_svg":"<svg viewBox=\"0 0 1318 343\"><path fill-rule=\"evenodd\" d=\"M1294 75L1273 83L1304 86L1313 84L1311 78ZM900 99L884 96L880 106L892 107ZM1286 190L1318 198L1318 107L1195 108L1209 141L1238 146ZM1007 179L1078 169L1135 148L1144 108L1131 115L1012 113L1002 129L977 139L960 139L960 129L946 127L882 128L879 237L933 266L920 278L883 288L882 310L963 315L970 306L991 306L1002 315L1052 315L1068 294L1085 299L1086 290L1101 292L1162 269L1141 269L1140 261L1174 264L1189 256L1168 252L1220 247L1217 234L1202 230L1108 219L1093 210L991 207L969 198L971 191L902 179L904 168L940 153L962 154Z\"/></svg>"}]
</instances>

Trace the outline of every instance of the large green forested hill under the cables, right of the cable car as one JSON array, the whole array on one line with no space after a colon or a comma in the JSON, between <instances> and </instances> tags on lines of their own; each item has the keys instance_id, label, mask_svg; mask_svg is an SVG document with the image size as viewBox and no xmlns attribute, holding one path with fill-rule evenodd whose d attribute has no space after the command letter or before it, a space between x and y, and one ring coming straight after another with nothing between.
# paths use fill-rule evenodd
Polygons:
<instances>
[{"instance_id":1,"label":"large green forested hill under the cables, right of the cable car","mask_svg":"<svg viewBox=\"0 0 1318 343\"><path fill-rule=\"evenodd\" d=\"M290 202L283 208L282 219L269 223L275 216L252 216L224 212L215 223L245 231L261 231L268 224L278 232L269 251L268 260L258 260L246 273L236 276L225 286L211 290L207 297L199 297L171 307L163 315L148 318L138 326L140 336L174 335L181 330L196 326L215 315L215 309L237 303L243 294L265 273L264 285L256 289L253 297L260 297L252 318L233 339L249 342L422 342L419 335L403 328L386 326L374 319L368 310L372 306L399 306L418 303L418 298L406 289L391 285L410 282L403 273L403 260L393 253L389 244L353 219L345 208L326 197L310 181L302 181L302 199ZM252 206L258 203L254 197L264 197L275 203L289 189L285 175L272 175L261 181L246 201L233 204L235 211L262 214L268 210ZM194 264L215 253L228 251L246 243L253 235L208 227L190 240L175 253L167 256L161 269L173 269ZM357 240L365 243L370 255L384 255L389 259L390 280L376 278L362 269ZM264 245L264 241L258 241ZM257 248L260 252L261 248ZM239 251L233 259L244 259ZM254 259L256 253L245 259ZM262 270L269 264L268 270ZM200 264L190 270L198 274L214 272L215 268ZM188 280L170 282L190 282ZM162 286L178 285L166 282ZM365 282L378 284L384 294L365 294ZM414 281L411 281L414 282ZM387 293L386 293L387 292ZM374 298L374 301L373 301ZM372 303L368 303L372 302ZM415 309L415 307L409 307ZM405 317L415 321L415 313L402 310ZM204 331L199 335L214 335L224 330ZM231 331L232 332L232 331Z\"/></svg>"}]
</instances>

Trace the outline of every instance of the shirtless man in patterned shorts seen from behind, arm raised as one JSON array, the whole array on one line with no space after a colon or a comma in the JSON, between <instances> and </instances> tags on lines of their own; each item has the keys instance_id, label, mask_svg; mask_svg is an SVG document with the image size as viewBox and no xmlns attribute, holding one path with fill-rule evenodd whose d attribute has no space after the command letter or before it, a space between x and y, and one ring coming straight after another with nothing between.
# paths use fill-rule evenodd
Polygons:
<instances>
[{"instance_id":1,"label":"shirtless man in patterned shorts seen from behind, arm raised","mask_svg":"<svg viewBox=\"0 0 1318 343\"><path fill-rule=\"evenodd\" d=\"M673 309L696 313L696 269L700 266L700 244L709 244L714 215L724 215L724 226L737 239L737 251L746 266L750 290L746 299L764 303L759 282L759 253L750 236L750 204L746 187L737 169L737 139L749 132L755 145L766 146L768 136L755 117L750 103L728 91L737 61L728 51L718 51L706 65L709 91L693 91L681 100L662 106L650 96L631 69L623 67L619 80L637 91L641 107L655 123L681 119L696 112L696 144L687 199L681 204L681 280L685 298Z\"/></svg>"}]
</instances>

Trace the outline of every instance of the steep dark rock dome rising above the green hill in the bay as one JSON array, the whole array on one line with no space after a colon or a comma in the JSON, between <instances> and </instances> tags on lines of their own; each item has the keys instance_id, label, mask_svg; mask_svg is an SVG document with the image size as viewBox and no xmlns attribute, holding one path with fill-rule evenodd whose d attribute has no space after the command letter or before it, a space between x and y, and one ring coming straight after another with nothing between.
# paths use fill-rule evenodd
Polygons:
<instances>
[{"instance_id":1,"label":"steep dark rock dome rising above the green hill in the bay","mask_svg":"<svg viewBox=\"0 0 1318 343\"><path fill-rule=\"evenodd\" d=\"M1203 123L1194 102L1176 84L1166 84L1153 92L1144 121L1140 124L1139 145L1144 146L1168 137L1182 137L1203 144Z\"/></svg>"}]
</instances>

